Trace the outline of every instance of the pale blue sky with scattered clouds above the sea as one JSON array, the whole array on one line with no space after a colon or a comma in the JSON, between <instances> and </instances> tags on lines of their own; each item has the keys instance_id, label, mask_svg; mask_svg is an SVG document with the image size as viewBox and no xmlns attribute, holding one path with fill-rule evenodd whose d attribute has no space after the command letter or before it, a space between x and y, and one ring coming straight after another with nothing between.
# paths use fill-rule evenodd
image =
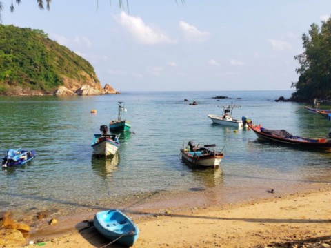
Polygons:
<instances>
[{"instance_id":1,"label":"pale blue sky with scattered clouds above the sea","mask_svg":"<svg viewBox=\"0 0 331 248\"><path fill-rule=\"evenodd\" d=\"M330 0L1 1L3 25L43 30L120 92L293 90L302 34L331 14Z\"/></svg>"}]
</instances>

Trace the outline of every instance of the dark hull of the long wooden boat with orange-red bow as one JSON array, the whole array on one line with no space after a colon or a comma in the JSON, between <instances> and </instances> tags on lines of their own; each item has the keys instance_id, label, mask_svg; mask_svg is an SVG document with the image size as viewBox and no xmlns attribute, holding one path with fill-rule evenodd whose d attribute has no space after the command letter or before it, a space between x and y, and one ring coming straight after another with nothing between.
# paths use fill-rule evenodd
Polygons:
<instances>
[{"instance_id":1,"label":"dark hull of the long wooden boat with orange-red bow","mask_svg":"<svg viewBox=\"0 0 331 248\"><path fill-rule=\"evenodd\" d=\"M303 138L299 136L283 138L261 132L261 129L263 129L263 127L260 126L250 125L250 128L254 131L255 134L257 134L258 138L265 141L272 141L273 143L281 143L294 147L323 149L325 151L331 152L331 140L327 140L325 138Z\"/></svg>"}]
</instances>

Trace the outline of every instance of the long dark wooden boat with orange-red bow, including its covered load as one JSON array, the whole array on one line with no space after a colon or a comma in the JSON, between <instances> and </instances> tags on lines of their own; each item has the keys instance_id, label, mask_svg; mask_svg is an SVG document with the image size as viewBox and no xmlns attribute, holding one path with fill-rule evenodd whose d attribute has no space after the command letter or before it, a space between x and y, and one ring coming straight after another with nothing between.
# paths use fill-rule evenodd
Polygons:
<instances>
[{"instance_id":1,"label":"long dark wooden boat with orange-red bow, including its covered load","mask_svg":"<svg viewBox=\"0 0 331 248\"><path fill-rule=\"evenodd\" d=\"M286 130L269 130L261 125L250 125L250 128L257 134L258 138L274 143L283 143L295 147L306 147L314 149L323 149L331 152L331 139L326 138L304 138L294 136ZM330 136L330 134L329 134Z\"/></svg>"}]
</instances>

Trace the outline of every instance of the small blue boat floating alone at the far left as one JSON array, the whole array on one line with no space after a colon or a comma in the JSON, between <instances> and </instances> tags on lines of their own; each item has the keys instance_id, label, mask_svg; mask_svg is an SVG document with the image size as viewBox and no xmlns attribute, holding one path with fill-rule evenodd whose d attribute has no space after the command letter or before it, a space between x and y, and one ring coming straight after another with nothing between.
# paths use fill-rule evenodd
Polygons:
<instances>
[{"instance_id":1,"label":"small blue boat floating alone at the far left","mask_svg":"<svg viewBox=\"0 0 331 248\"><path fill-rule=\"evenodd\" d=\"M8 149L7 155L2 158L2 167L6 168L14 165L23 165L31 161L34 156L36 156L34 150Z\"/></svg>"}]
</instances>

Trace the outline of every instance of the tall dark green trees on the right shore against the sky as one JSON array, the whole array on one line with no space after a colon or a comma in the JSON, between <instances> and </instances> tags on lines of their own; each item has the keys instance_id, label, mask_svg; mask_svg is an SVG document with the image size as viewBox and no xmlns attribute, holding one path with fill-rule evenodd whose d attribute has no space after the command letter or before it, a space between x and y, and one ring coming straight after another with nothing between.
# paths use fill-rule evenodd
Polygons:
<instances>
[{"instance_id":1,"label":"tall dark green trees on the right shore against the sky","mask_svg":"<svg viewBox=\"0 0 331 248\"><path fill-rule=\"evenodd\" d=\"M308 34L302 35L303 53L294 56L300 68L297 83L292 83L297 92L292 99L328 99L331 96L331 18L323 21L321 28L310 25Z\"/></svg>"}]
</instances>

